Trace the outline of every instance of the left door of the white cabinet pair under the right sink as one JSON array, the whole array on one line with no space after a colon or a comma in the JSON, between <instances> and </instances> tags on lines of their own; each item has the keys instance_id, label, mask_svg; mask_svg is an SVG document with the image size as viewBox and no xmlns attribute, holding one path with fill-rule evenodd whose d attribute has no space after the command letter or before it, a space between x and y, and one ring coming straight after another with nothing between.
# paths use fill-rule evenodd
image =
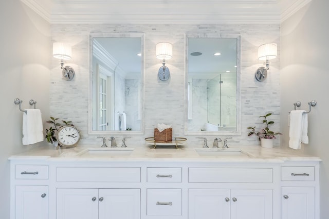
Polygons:
<instances>
[{"instance_id":1,"label":"left door of the white cabinet pair under the right sink","mask_svg":"<svg viewBox=\"0 0 329 219\"><path fill-rule=\"evenodd\" d=\"M229 189L189 189L189 219L230 218Z\"/></svg>"}]
</instances>

